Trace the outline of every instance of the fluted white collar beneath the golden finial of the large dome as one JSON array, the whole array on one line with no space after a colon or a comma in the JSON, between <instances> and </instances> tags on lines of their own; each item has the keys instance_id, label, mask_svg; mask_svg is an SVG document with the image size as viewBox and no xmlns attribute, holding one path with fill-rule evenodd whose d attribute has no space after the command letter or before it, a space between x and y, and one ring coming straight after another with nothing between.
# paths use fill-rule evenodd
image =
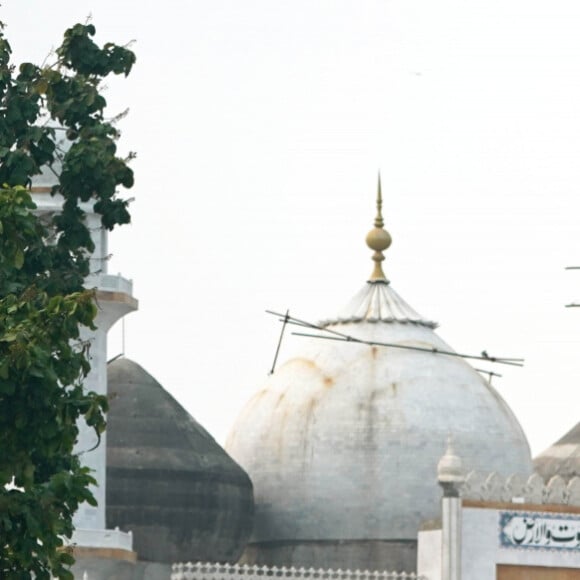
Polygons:
<instances>
[{"instance_id":1,"label":"fluted white collar beneath the golden finial of the large dome","mask_svg":"<svg viewBox=\"0 0 580 580\"><path fill-rule=\"evenodd\" d=\"M400 322L437 328L436 322L407 304L386 280L369 280L336 317L323 320L320 325L353 322Z\"/></svg>"}]
</instances>

